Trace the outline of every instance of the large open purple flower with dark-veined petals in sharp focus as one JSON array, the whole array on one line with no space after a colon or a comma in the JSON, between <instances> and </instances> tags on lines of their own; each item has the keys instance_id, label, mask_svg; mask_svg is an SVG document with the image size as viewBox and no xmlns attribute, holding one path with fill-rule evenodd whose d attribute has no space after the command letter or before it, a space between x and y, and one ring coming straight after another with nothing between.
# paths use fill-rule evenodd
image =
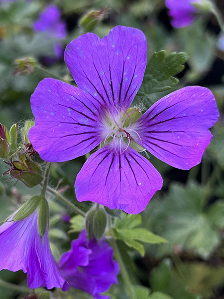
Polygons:
<instances>
[{"instance_id":1,"label":"large open purple flower with dark-veined petals in sharp focus","mask_svg":"<svg viewBox=\"0 0 224 299\"><path fill-rule=\"evenodd\" d=\"M79 201L139 213L162 187L162 177L138 151L147 149L177 168L200 163L219 117L207 88L192 86L162 98L140 118L128 109L142 83L147 44L134 28L116 26L102 40L72 41L65 61L79 88L46 78L31 97L36 124L29 140L42 159L62 162L100 145L75 182Z\"/></svg>"}]
</instances>

